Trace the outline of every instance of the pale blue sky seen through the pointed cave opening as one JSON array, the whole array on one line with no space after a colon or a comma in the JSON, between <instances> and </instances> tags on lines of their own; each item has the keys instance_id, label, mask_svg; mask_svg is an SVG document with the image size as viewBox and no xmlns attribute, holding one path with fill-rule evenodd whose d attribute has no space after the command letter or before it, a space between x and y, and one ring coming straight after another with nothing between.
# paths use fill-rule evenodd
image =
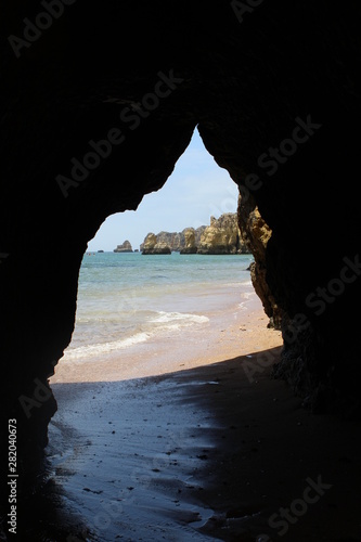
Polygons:
<instances>
[{"instance_id":1,"label":"pale blue sky seen through the pointed cave opening","mask_svg":"<svg viewBox=\"0 0 361 542\"><path fill-rule=\"evenodd\" d=\"M124 241L139 248L147 233L181 232L208 225L210 217L235 212L238 189L203 145L197 129L158 192L143 197L138 209L108 217L88 244L88 251L113 250Z\"/></svg>"}]
</instances>

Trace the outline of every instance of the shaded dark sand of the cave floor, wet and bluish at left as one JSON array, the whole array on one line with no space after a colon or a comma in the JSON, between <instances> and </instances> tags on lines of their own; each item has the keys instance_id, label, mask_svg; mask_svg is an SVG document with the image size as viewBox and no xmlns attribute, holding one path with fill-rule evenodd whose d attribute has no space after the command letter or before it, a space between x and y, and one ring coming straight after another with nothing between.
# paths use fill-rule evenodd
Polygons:
<instances>
[{"instance_id":1,"label":"shaded dark sand of the cave floor, wet and bluish at left","mask_svg":"<svg viewBox=\"0 0 361 542\"><path fill-rule=\"evenodd\" d=\"M89 540L361 540L359 428L311 415L267 371L250 384L238 358L54 391L54 475ZM278 535L268 518L320 476L333 487Z\"/></svg>"}]
</instances>

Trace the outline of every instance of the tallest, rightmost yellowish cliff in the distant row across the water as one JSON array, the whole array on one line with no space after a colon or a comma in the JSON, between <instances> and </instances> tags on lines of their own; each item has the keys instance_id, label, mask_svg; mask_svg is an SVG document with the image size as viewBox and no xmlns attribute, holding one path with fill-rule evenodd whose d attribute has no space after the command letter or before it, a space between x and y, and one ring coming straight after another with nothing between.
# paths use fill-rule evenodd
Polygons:
<instances>
[{"instance_id":1,"label":"tallest, rightmost yellowish cliff in the distant row across the water","mask_svg":"<svg viewBox=\"0 0 361 542\"><path fill-rule=\"evenodd\" d=\"M197 254L248 254L243 243L235 212L227 212L218 219L210 217L202 234Z\"/></svg>"}]
</instances>

